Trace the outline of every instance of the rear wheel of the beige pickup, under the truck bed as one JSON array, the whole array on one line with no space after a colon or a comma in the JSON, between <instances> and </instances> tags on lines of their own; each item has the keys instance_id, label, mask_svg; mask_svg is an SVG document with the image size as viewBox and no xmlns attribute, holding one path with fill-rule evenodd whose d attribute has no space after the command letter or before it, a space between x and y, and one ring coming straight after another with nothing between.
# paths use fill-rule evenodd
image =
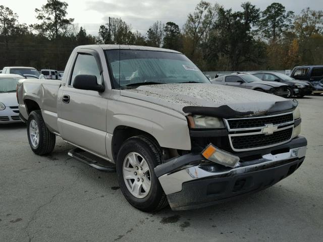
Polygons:
<instances>
[{"instance_id":1,"label":"rear wheel of the beige pickup, under the truck bed","mask_svg":"<svg viewBox=\"0 0 323 242\"><path fill-rule=\"evenodd\" d=\"M35 124L37 126L36 129L32 129L35 127ZM31 138L35 137L33 134L37 134L38 139L35 140L38 140L38 142ZM47 129L40 110L32 111L29 114L27 120L27 136L31 150L37 155L49 154L55 147L56 135Z\"/></svg>"}]
</instances>

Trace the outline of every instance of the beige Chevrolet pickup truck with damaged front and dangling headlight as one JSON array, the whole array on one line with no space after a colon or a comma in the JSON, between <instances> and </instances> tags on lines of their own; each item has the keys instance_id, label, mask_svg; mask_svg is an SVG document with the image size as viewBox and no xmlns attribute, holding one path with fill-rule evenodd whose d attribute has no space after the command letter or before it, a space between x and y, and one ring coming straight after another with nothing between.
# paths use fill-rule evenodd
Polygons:
<instances>
[{"instance_id":1,"label":"beige Chevrolet pickup truck with damaged front and dangling headlight","mask_svg":"<svg viewBox=\"0 0 323 242\"><path fill-rule=\"evenodd\" d=\"M17 86L31 150L56 136L72 157L116 170L134 207L225 202L276 184L303 162L297 101L214 85L182 53L152 47L74 49L62 81Z\"/></svg>"}]
</instances>

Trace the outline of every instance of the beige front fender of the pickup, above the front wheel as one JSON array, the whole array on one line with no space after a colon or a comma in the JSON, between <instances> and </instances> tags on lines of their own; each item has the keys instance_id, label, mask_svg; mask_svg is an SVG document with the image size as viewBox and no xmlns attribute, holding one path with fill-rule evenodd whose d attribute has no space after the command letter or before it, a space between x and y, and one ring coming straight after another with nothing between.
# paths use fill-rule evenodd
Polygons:
<instances>
[{"instance_id":1,"label":"beige front fender of the pickup, above the front wheel","mask_svg":"<svg viewBox=\"0 0 323 242\"><path fill-rule=\"evenodd\" d=\"M141 101L140 101L141 102ZM118 126L127 126L152 135L161 147L190 150L191 140L186 117L169 108L153 103L120 102L109 100L107 133Z\"/></svg>"}]
</instances>

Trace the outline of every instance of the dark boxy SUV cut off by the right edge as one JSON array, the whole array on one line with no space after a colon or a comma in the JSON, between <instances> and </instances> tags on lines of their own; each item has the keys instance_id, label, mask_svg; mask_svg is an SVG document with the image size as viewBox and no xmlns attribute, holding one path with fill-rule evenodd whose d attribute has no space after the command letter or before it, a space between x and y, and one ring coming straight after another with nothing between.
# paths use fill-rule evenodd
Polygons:
<instances>
[{"instance_id":1,"label":"dark boxy SUV cut off by the right edge","mask_svg":"<svg viewBox=\"0 0 323 242\"><path fill-rule=\"evenodd\" d=\"M313 86L313 94L323 93L323 66L294 67L291 77L297 80L309 81Z\"/></svg>"}]
</instances>

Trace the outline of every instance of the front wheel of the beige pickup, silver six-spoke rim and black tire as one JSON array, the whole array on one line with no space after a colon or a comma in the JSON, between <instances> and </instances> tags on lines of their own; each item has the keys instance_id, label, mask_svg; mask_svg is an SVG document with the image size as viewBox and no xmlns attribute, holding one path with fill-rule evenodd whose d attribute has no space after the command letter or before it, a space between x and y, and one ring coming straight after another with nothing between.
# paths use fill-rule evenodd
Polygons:
<instances>
[{"instance_id":1,"label":"front wheel of the beige pickup, silver six-spoke rim and black tire","mask_svg":"<svg viewBox=\"0 0 323 242\"><path fill-rule=\"evenodd\" d=\"M146 164L148 165L149 172L145 173L145 175L143 176L141 175L142 173L141 174L136 173L137 171L138 172L140 171L140 168L142 168L141 164L139 166L139 169L136 170L135 169L136 165L134 165L133 168L131 168L130 167L132 166L130 164L131 162L129 161L129 159L127 159L127 157L136 156L136 155L138 158L137 160L139 160L139 163L140 161L141 163L143 163L143 159L144 159ZM140 160L141 158L143 159ZM127 201L132 206L134 206L135 208L141 211L153 212L164 208L168 204L167 197L163 191L163 188L161 188L158 178L156 177L153 170L154 167L156 167L158 164L161 164L162 159L163 159L162 152L159 145L153 139L142 135L131 137L128 140L126 140L118 152L116 169L117 169L117 177L118 177L120 189L123 195L125 196L125 198L127 199ZM129 164L128 167L127 167L127 164ZM125 172L125 176L124 176L124 172ZM136 176L133 176L132 172L136 173ZM130 174L131 176L127 176L127 174ZM126 176L134 177L134 179L130 179L130 178L127 179L125 178ZM139 178L137 176L142 178ZM139 180L136 180L138 178ZM141 179L145 179L145 180L142 180L144 182L150 179L149 192L144 190L145 188L144 182L142 182L139 194L136 194L136 195L132 194L132 192L130 191L131 190L130 187L134 186L136 181L139 184L141 182ZM140 187L140 185L137 185L137 187L138 186Z\"/></svg>"}]
</instances>

